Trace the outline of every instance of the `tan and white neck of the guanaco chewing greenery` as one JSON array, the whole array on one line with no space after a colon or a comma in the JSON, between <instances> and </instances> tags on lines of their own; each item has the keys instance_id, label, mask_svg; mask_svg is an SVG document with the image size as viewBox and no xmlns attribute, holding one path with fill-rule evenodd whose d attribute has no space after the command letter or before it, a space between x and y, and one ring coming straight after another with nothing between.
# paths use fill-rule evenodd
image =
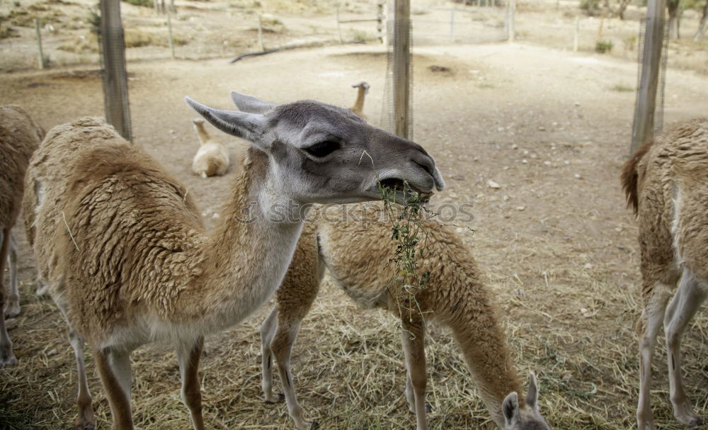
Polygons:
<instances>
[{"instance_id":1,"label":"tan and white neck of the guanaco chewing greenery","mask_svg":"<svg viewBox=\"0 0 708 430\"><path fill-rule=\"evenodd\" d=\"M285 276L302 230L301 220L279 211L295 203L279 198L268 156L250 149L222 224L202 247L202 273L182 306L186 319L213 332L240 322L268 300Z\"/></svg>"}]
</instances>

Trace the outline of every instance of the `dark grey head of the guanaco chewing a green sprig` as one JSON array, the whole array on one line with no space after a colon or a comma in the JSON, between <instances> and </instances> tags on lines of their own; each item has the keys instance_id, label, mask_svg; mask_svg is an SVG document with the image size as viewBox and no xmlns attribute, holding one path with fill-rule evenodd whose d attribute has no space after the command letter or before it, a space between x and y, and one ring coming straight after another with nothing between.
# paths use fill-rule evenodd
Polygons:
<instances>
[{"instance_id":1,"label":"dark grey head of the guanaco chewing a green sprig","mask_svg":"<svg viewBox=\"0 0 708 430\"><path fill-rule=\"evenodd\" d=\"M216 128L249 140L268 154L278 192L300 203L378 200L379 181L411 198L404 183L428 196L444 186L435 161L420 145L368 125L319 101L276 106L232 92L241 111L187 102Z\"/></svg>"}]
</instances>

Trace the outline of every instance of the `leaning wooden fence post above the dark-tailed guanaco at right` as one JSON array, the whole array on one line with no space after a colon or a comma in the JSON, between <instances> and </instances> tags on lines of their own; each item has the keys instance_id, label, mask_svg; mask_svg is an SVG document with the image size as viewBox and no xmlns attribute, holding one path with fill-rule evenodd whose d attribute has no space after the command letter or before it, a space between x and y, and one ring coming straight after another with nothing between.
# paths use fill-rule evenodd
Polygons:
<instances>
[{"instance_id":1,"label":"leaning wooden fence post above the dark-tailed guanaco at right","mask_svg":"<svg viewBox=\"0 0 708 430\"><path fill-rule=\"evenodd\" d=\"M641 76L636 91L634 125L630 152L636 151L654 135L654 113L656 112L656 88L661 64L661 50L664 37L664 10L666 0L649 0L646 10L646 33L642 48Z\"/></svg>"}]
</instances>

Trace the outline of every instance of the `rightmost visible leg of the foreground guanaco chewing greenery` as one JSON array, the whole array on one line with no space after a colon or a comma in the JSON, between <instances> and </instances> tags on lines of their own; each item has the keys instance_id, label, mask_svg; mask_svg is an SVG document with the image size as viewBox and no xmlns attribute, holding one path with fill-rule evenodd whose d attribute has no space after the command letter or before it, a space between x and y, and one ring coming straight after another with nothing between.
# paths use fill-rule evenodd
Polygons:
<instances>
[{"instance_id":1,"label":"rightmost visible leg of the foreground guanaco chewing greenery","mask_svg":"<svg viewBox=\"0 0 708 430\"><path fill-rule=\"evenodd\" d=\"M202 391L199 385L199 359L204 349L204 338L200 337L194 345L177 348L179 371L182 377L182 401L189 409L194 430L204 430L202 417Z\"/></svg>"}]
</instances>

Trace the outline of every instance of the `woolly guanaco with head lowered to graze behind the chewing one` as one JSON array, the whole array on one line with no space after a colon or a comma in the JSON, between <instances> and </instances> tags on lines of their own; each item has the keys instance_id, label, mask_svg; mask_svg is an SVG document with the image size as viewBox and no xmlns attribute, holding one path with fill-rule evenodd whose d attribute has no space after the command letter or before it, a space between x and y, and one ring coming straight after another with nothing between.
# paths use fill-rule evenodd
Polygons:
<instances>
[{"instance_id":1,"label":"woolly guanaco with head lowered to graze behind the chewing one","mask_svg":"<svg viewBox=\"0 0 708 430\"><path fill-rule=\"evenodd\" d=\"M318 225L305 224L290 268L276 293L275 307L261 325L265 400L279 400L272 390L271 362L275 355L290 417L297 429L311 426L312 421L304 419L295 395L290 352L300 322L312 306L324 269L328 268L333 282L360 305L382 307L401 318L408 368L406 399L416 414L418 430L427 429L426 320L452 330L482 400L501 429L549 429L539 414L533 375L524 398L491 293L479 281L479 269L468 247L445 225L433 220L424 222L428 237L421 242L425 242L426 255L417 262L421 273L430 271L430 278L426 288L416 294L420 310L401 315L399 302L389 292L389 283L396 275L396 268L389 263L395 256L396 244L391 239L391 224L381 220L380 213L357 208L353 219L365 221L317 217ZM416 254L421 248L422 244ZM407 302L404 306L415 307Z\"/></svg>"}]
</instances>

